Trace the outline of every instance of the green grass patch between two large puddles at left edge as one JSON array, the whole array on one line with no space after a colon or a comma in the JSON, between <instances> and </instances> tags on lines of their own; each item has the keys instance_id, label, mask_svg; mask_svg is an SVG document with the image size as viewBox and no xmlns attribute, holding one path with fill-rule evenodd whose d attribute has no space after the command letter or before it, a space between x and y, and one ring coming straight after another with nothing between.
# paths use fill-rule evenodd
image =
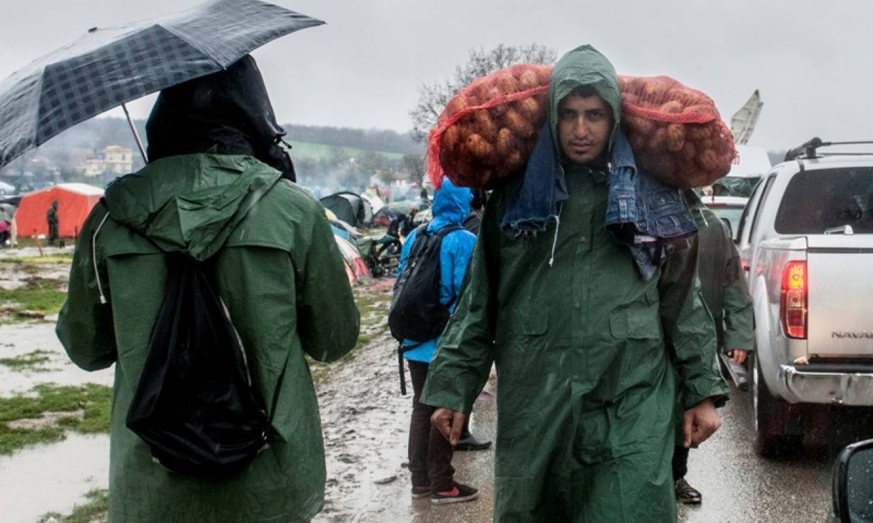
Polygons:
<instances>
[{"instance_id":1,"label":"green grass patch between two large puddles at left edge","mask_svg":"<svg viewBox=\"0 0 873 523\"><path fill-rule=\"evenodd\" d=\"M65 438L66 431L99 433L109 431L112 388L105 385L82 386L40 384L31 395L0 397L0 454L10 454L26 445L48 443ZM33 428L10 427L12 421L38 419L44 412L76 412L55 423Z\"/></svg>"}]
</instances>

